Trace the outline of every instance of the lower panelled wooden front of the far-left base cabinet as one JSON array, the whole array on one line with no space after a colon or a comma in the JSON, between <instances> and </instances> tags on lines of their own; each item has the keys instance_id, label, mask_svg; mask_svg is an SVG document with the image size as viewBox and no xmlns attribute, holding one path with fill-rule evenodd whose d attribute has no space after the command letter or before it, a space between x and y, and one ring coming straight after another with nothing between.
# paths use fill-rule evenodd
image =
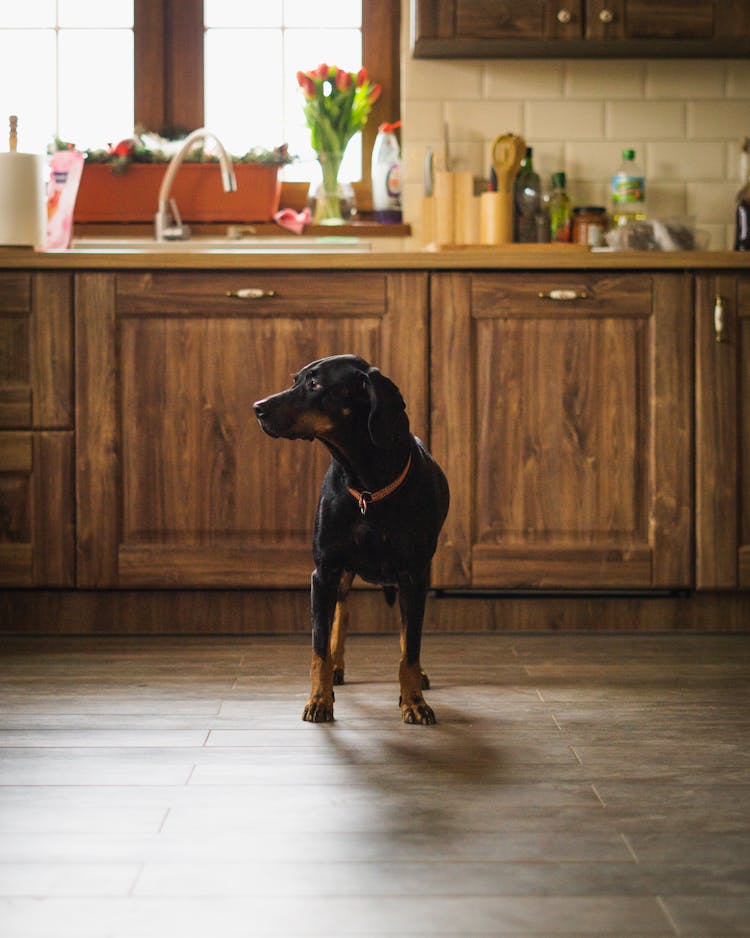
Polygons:
<instances>
[{"instance_id":1,"label":"lower panelled wooden front of the far-left base cabinet","mask_svg":"<svg viewBox=\"0 0 750 938\"><path fill-rule=\"evenodd\" d=\"M73 586L73 434L0 433L0 585Z\"/></svg>"}]
</instances>

